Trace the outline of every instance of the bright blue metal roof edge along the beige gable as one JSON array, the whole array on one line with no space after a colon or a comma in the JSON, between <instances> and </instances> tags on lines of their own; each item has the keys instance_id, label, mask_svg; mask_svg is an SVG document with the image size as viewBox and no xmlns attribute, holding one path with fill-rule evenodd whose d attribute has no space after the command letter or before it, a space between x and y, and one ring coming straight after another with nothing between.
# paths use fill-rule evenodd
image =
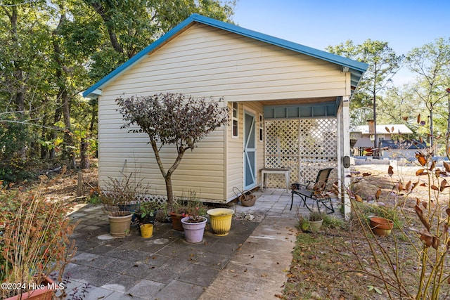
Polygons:
<instances>
[{"instance_id":1,"label":"bright blue metal roof edge along the beige gable","mask_svg":"<svg viewBox=\"0 0 450 300\"><path fill-rule=\"evenodd\" d=\"M172 28L167 34L160 37L160 39L154 41L152 44L144 48L141 52L137 53L135 56L127 60L127 62L123 63L117 69L115 69L113 72L110 72L110 74L103 77L101 80L97 81L96 84L91 86L89 89L84 91L83 96L87 98L96 98L97 96L101 95L101 89L103 86L108 84L109 81L111 81L113 78L117 77L120 73L124 72L124 70L127 70L129 67L135 65L136 63L139 63L140 60L145 58L146 54L150 53L151 51L154 51L156 48L162 46L162 44L165 44L166 41L169 39L172 39L172 37L176 36L180 32L183 32L187 27L190 27L195 22L202 23L205 25L210 25L212 27L217 27L221 30L226 30L229 32L233 32L236 34L240 34L244 37L250 37L251 39L257 39L259 41L264 41L265 43L272 44L275 46L279 46L282 48L287 48L289 50L305 54L307 56L312 56L314 58L319 58L321 60L326 60L330 63L335 63L337 65L341 65L342 67L348 67L349 72L352 74L352 86L357 86L359 83L359 80L361 79L364 72L367 70L368 65L366 63L361 63L356 60L352 60L349 58L344 58L342 56L337 56L332 53L328 53L326 51L321 51L315 48L303 46L300 44L293 43L292 41L286 41L284 39L278 39L277 37L272 37L267 34L262 34L260 32L255 32L253 30L248 30L243 27L239 27L227 22L221 22L219 20L215 20L212 18L207 18L203 15L193 14L189 16L186 20L181 22L179 25L176 25L176 27Z\"/></svg>"}]
</instances>

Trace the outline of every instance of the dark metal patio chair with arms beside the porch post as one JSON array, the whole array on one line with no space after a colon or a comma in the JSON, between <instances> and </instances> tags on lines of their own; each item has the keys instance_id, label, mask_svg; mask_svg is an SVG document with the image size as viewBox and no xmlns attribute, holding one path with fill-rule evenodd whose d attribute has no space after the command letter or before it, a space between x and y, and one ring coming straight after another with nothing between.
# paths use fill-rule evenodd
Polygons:
<instances>
[{"instance_id":1,"label":"dark metal patio chair with arms beside the porch post","mask_svg":"<svg viewBox=\"0 0 450 300\"><path fill-rule=\"evenodd\" d=\"M317 174L316 181L307 181L304 185L293 183L291 186L292 195L290 197L290 210L293 209L294 195L297 195L303 201L303 206L307 207L309 211L312 211L312 207L308 206L307 200L313 202L312 206L314 206L315 202L319 212L321 211L320 206L323 206L325 207L327 214L333 214L335 209L333 203L331 203L330 195L326 193L325 190L331 170L333 170L333 168L321 169Z\"/></svg>"}]
</instances>

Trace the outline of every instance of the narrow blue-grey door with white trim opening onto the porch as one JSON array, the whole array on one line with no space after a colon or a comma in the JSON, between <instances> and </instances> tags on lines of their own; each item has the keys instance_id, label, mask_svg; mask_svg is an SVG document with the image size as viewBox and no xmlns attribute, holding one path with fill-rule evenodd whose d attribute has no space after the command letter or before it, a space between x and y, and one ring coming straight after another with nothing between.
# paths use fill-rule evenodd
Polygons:
<instances>
[{"instance_id":1,"label":"narrow blue-grey door with white trim opening onto the porch","mask_svg":"<svg viewBox=\"0 0 450 300\"><path fill-rule=\"evenodd\" d=\"M255 115L244 111L244 189L256 186Z\"/></svg>"}]
</instances>

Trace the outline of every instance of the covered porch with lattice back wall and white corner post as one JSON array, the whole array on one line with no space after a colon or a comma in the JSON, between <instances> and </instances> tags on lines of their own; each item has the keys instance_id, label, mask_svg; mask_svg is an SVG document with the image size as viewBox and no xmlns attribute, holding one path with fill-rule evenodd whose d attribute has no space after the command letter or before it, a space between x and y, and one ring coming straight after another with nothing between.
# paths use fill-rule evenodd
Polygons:
<instances>
[{"instance_id":1,"label":"covered porch with lattice back wall and white corner post","mask_svg":"<svg viewBox=\"0 0 450 300\"><path fill-rule=\"evenodd\" d=\"M328 186L335 182L348 184L345 178L349 169L343 164L343 157L349 155L348 104L349 97L345 96L259 102L262 119L255 124L260 131L259 153L255 155L255 166L244 168L245 182L247 178L255 178L255 181L250 180L255 185L248 189L259 196L259 205L245 209L293 217L298 213L307 215L309 211L305 207L298 207L300 199L297 197L290 211L290 184L314 182L321 169L333 168ZM245 110L249 104L243 102L242 105ZM251 126L244 124L243 131L246 127ZM248 141L244 143L245 167L252 164L245 148L248 144ZM334 197L335 211L340 211L345 202L343 193ZM347 214L349 206L345 207Z\"/></svg>"}]
</instances>

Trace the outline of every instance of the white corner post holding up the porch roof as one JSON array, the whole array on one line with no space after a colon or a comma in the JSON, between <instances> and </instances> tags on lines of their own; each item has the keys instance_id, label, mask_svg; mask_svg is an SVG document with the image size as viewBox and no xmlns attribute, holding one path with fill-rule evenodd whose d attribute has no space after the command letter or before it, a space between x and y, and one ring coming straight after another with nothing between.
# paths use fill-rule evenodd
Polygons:
<instances>
[{"instance_id":1,"label":"white corner post holding up the porch roof","mask_svg":"<svg viewBox=\"0 0 450 300\"><path fill-rule=\"evenodd\" d=\"M342 97L342 103L338 110L338 180L341 184L340 199L344 205L344 216L348 220L350 217L350 198L345 193L345 187L351 183L349 168L344 168L343 157L350 156L350 115L349 115L350 97Z\"/></svg>"}]
</instances>

